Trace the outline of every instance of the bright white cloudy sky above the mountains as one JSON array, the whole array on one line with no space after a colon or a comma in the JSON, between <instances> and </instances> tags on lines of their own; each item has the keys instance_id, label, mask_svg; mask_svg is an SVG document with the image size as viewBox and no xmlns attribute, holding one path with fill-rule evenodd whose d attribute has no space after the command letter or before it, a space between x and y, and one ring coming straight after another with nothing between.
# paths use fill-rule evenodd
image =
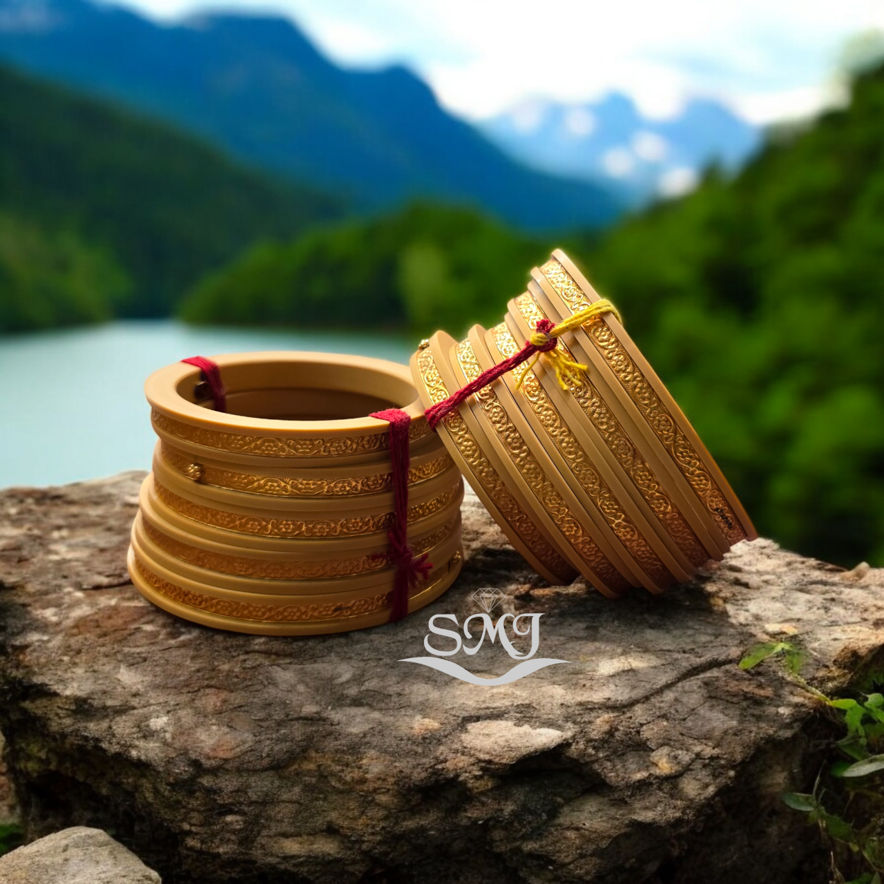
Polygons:
<instances>
[{"instance_id":1,"label":"bright white cloudy sky above the mountains","mask_svg":"<svg viewBox=\"0 0 884 884\"><path fill-rule=\"evenodd\" d=\"M125 2L162 19L219 6L281 13L341 65L407 65L469 119L612 90L656 118L693 95L760 124L804 117L837 100L845 43L884 30L884 0Z\"/></svg>"}]
</instances>

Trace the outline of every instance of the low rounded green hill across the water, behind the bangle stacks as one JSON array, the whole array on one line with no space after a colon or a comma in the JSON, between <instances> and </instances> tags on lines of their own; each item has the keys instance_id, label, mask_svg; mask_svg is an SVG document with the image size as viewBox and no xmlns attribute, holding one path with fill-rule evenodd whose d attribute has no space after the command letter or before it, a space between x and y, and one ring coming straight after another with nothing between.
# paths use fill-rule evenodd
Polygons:
<instances>
[{"instance_id":1,"label":"low rounded green hill across the water, behind the bangle stacks","mask_svg":"<svg viewBox=\"0 0 884 884\"><path fill-rule=\"evenodd\" d=\"M181 314L209 324L465 331L498 321L549 248L471 210L416 204L259 244L196 286Z\"/></svg>"}]
</instances>

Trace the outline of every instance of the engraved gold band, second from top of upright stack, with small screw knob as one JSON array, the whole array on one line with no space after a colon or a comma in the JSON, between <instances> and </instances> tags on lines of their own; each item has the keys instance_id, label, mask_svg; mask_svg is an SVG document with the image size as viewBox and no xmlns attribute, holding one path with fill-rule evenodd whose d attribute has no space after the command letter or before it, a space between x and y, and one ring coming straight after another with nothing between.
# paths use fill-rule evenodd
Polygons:
<instances>
[{"instance_id":1,"label":"engraved gold band, second from top of upright stack, with small screw knob","mask_svg":"<svg viewBox=\"0 0 884 884\"><path fill-rule=\"evenodd\" d=\"M359 494L378 494L392 491L392 474L342 477L338 479L303 479L285 476L254 476L232 469L212 467L194 462L192 455L179 451L167 442L161 443L163 457L172 467L195 482L229 488L249 494L270 494L274 497L354 497ZM452 466L451 458L443 453L433 461L408 470L408 484L417 484L445 472Z\"/></svg>"}]
</instances>

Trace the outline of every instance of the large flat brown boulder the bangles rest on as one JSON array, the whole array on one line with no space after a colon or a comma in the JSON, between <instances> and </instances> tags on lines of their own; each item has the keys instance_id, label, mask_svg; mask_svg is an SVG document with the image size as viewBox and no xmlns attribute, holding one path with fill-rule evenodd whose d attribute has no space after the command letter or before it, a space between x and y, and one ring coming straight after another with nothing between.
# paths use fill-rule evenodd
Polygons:
<instances>
[{"instance_id":1,"label":"large flat brown boulder the bangles rest on","mask_svg":"<svg viewBox=\"0 0 884 884\"><path fill-rule=\"evenodd\" d=\"M812 785L819 711L782 667L736 663L789 636L809 682L842 688L880 659L880 570L758 540L612 602L546 586L468 496L463 575L432 606L239 636L133 590L140 479L0 494L0 729L29 837L106 828L167 884L827 880L780 800ZM495 614L543 613L537 657L570 662L498 687L399 662L484 587L505 593ZM515 664L488 641L438 659Z\"/></svg>"}]
</instances>

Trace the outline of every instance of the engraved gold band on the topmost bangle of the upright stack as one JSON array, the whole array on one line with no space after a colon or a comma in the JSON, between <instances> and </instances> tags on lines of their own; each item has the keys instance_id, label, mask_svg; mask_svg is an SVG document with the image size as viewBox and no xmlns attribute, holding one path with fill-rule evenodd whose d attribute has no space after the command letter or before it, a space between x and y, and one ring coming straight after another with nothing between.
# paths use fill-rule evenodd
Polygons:
<instances>
[{"instance_id":1,"label":"engraved gold band on the topmost bangle of the upright stack","mask_svg":"<svg viewBox=\"0 0 884 884\"><path fill-rule=\"evenodd\" d=\"M194 445L215 448L239 454L257 454L262 457L350 457L354 454L383 452L389 447L389 433L365 433L361 436L326 436L309 438L295 436L257 436L254 433L231 433L197 427L177 421L153 408L150 420L158 431L184 439ZM408 438L414 442L431 432L423 419L412 421Z\"/></svg>"}]
</instances>

